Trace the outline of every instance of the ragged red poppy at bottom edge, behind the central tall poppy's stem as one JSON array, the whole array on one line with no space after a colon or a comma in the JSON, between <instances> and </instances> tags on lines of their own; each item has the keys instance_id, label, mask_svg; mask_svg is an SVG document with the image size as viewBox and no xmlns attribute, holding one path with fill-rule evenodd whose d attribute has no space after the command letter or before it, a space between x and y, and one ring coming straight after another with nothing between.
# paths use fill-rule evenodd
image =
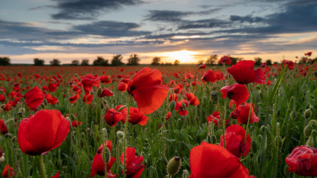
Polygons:
<instances>
[{"instance_id":1,"label":"ragged red poppy at bottom edge, behind the central tall poppy's stem","mask_svg":"<svg viewBox=\"0 0 317 178\"><path fill-rule=\"evenodd\" d=\"M125 165L126 171L125 175L127 178L140 178L145 165L141 164L143 161L143 156L135 156L136 149L133 147L127 147L125 149L126 157L125 157ZM121 163L124 164L124 152L122 152L120 157ZM123 170L122 170L123 174Z\"/></svg>"}]
</instances>

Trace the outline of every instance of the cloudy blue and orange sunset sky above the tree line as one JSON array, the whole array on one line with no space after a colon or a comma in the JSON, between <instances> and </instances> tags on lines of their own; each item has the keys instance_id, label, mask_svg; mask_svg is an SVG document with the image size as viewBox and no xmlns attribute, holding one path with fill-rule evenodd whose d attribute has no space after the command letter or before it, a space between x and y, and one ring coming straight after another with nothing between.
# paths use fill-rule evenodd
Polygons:
<instances>
[{"instance_id":1,"label":"cloudy blue and orange sunset sky above the tree line","mask_svg":"<svg viewBox=\"0 0 317 178\"><path fill-rule=\"evenodd\" d=\"M317 0L1 0L0 56L140 63L317 54ZM315 55L314 55L315 54Z\"/></svg>"}]
</instances>

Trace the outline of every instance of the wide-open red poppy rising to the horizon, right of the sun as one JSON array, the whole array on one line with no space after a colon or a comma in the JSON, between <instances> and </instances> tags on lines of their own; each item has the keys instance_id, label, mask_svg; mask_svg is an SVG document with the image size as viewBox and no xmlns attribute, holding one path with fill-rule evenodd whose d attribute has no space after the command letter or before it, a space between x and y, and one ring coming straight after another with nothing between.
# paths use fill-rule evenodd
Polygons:
<instances>
[{"instance_id":1,"label":"wide-open red poppy rising to the horizon, right of the sun","mask_svg":"<svg viewBox=\"0 0 317 178\"><path fill-rule=\"evenodd\" d=\"M242 60L236 65L227 68L227 71L239 84L258 83L265 84L265 76L261 68L254 70L254 61Z\"/></svg>"}]
</instances>

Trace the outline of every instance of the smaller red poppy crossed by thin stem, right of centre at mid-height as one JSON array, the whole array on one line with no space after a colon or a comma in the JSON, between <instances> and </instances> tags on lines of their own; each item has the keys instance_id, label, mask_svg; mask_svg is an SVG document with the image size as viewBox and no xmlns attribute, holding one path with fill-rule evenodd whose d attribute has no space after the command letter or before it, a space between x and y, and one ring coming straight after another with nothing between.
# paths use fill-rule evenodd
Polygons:
<instances>
[{"instance_id":1,"label":"smaller red poppy crossed by thin stem, right of centre at mid-height","mask_svg":"<svg viewBox=\"0 0 317 178\"><path fill-rule=\"evenodd\" d=\"M250 103L245 104L244 106L238 106L235 108L230 116L233 119L238 119L239 124L248 124L250 106ZM250 124L257 123L259 120L260 119L258 118L258 116L254 113L254 106L252 106Z\"/></svg>"}]
</instances>

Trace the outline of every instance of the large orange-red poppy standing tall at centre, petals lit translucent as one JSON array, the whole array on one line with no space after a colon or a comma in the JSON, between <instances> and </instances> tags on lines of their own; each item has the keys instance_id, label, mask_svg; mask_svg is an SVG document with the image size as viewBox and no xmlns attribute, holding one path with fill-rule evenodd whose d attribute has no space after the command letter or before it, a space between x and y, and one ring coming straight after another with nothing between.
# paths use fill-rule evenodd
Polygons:
<instances>
[{"instance_id":1,"label":"large orange-red poppy standing tall at centre, petals lit translucent","mask_svg":"<svg viewBox=\"0 0 317 178\"><path fill-rule=\"evenodd\" d=\"M133 95L140 113L150 114L163 104L169 88L161 85L161 82L161 72L148 67L143 68L130 80L128 93Z\"/></svg>"}]
</instances>

